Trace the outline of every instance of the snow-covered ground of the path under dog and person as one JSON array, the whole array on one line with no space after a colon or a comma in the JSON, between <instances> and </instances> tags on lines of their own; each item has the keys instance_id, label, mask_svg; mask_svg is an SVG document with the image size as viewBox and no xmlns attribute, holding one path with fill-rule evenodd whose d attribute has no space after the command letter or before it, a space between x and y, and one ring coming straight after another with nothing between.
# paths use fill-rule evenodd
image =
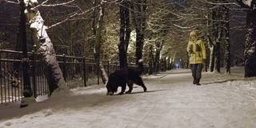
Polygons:
<instances>
[{"instance_id":1,"label":"snow-covered ground of the path under dog and person","mask_svg":"<svg viewBox=\"0 0 256 128\"><path fill-rule=\"evenodd\" d=\"M90 86L66 98L51 98L19 109L0 106L0 128L254 128L256 78L204 73L202 86L191 84L190 70L145 77L148 92L106 96Z\"/></svg>"}]
</instances>

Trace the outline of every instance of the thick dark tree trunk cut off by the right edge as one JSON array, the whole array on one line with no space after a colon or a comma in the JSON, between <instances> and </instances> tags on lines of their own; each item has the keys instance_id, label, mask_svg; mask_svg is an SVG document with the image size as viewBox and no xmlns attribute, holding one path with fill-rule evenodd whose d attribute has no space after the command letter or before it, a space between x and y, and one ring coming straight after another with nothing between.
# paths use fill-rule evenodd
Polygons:
<instances>
[{"instance_id":1,"label":"thick dark tree trunk cut off by the right edge","mask_svg":"<svg viewBox=\"0 0 256 128\"><path fill-rule=\"evenodd\" d=\"M256 76L256 10L247 13L245 42L245 77Z\"/></svg>"}]
</instances>

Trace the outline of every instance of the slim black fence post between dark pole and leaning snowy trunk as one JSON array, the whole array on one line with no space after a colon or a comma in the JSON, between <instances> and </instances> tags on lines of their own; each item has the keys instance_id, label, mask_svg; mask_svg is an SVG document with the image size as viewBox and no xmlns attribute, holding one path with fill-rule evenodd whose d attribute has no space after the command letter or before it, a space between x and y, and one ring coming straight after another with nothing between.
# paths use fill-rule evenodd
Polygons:
<instances>
[{"instance_id":1,"label":"slim black fence post between dark pole and leaning snowy trunk","mask_svg":"<svg viewBox=\"0 0 256 128\"><path fill-rule=\"evenodd\" d=\"M33 62L32 62L32 75L33 75L33 91L34 91L34 98L38 96L37 94L37 85L36 85L36 76L35 76L35 66L36 66L36 45L33 46L32 53L33 53Z\"/></svg>"}]
</instances>

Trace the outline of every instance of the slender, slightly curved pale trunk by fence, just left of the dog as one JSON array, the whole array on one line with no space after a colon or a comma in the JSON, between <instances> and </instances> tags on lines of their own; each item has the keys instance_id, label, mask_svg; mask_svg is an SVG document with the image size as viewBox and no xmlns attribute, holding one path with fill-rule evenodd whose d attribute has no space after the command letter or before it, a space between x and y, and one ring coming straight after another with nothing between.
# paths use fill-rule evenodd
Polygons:
<instances>
[{"instance_id":1,"label":"slender, slightly curved pale trunk by fence, just left of the dog","mask_svg":"<svg viewBox=\"0 0 256 128\"><path fill-rule=\"evenodd\" d=\"M103 7L103 1L101 2L101 6L99 8L99 18L98 23L96 26L96 38L95 38L95 47L94 47L94 54L95 54L95 60L96 64L98 66L98 70L101 72L101 78L102 82L105 84L108 76L106 74L106 70L104 69L104 66L102 64L102 58L101 58L101 51L102 51L102 24L103 24L103 16L104 16L104 7Z\"/></svg>"}]
</instances>

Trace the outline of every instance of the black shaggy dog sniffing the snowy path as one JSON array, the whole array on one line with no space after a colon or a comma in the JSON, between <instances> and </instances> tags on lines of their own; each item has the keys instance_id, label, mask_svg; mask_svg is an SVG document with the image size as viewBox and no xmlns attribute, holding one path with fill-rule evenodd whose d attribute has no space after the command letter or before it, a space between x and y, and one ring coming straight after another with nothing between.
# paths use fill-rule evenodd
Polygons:
<instances>
[{"instance_id":1,"label":"black shaggy dog sniffing the snowy path","mask_svg":"<svg viewBox=\"0 0 256 128\"><path fill-rule=\"evenodd\" d=\"M144 92L146 92L146 86L142 82L142 78L135 70L128 69L128 74L125 70L116 70L114 73L110 74L110 78L106 83L107 95L113 95L118 91L118 86L122 87L122 90L119 94L124 94L126 90L126 84L129 86L129 90L126 91L126 94L130 94L133 90L133 85L137 84L142 86Z\"/></svg>"}]
</instances>

